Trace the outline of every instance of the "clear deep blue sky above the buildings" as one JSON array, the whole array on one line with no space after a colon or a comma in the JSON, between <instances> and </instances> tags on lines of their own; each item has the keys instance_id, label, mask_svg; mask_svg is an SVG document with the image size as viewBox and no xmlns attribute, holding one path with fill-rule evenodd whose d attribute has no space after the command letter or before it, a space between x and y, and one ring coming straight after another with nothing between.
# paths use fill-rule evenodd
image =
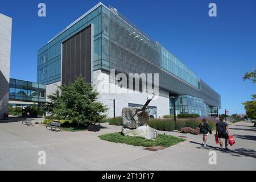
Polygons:
<instances>
[{"instance_id":1,"label":"clear deep blue sky above the buildings","mask_svg":"<svg viewBox=\"0 0 256 182\"><path fill-rule=\"evenodd\" d=\"M45 18L38 16L40 2L46 3ZM36 81L38 49L98 2L2 0L0 13L13 18L10 77ZM217 5L217 17L208 15L211 2ZM102 3L117 8L220 93L220 113L224 109L231 114L245 113L241 102L256 93L255 84L242 80L243 74L253 71L256 65L256 1L102 0Z\"/></svg>"}]
</instances>

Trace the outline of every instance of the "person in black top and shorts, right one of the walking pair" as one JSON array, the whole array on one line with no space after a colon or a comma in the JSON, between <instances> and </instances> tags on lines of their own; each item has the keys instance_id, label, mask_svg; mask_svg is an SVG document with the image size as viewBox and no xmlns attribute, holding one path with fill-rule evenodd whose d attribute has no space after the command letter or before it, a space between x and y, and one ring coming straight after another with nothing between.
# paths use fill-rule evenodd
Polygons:
<instances>
[{"instance_id":1,"label":"person in black top and shorts, right one of the walking pair","mask_svg":"<svg viewBox=\"0 0 256 182\"><path fill-rule=\"evenodd\" d=\"M216 135L220 140L221 151L223 151L223 139L225 139L225 150L228 149L228 138L230 135L228 124L224 122L223 118L220 118L220 121L216 123Z\"/></svg>"}]
</instances>

